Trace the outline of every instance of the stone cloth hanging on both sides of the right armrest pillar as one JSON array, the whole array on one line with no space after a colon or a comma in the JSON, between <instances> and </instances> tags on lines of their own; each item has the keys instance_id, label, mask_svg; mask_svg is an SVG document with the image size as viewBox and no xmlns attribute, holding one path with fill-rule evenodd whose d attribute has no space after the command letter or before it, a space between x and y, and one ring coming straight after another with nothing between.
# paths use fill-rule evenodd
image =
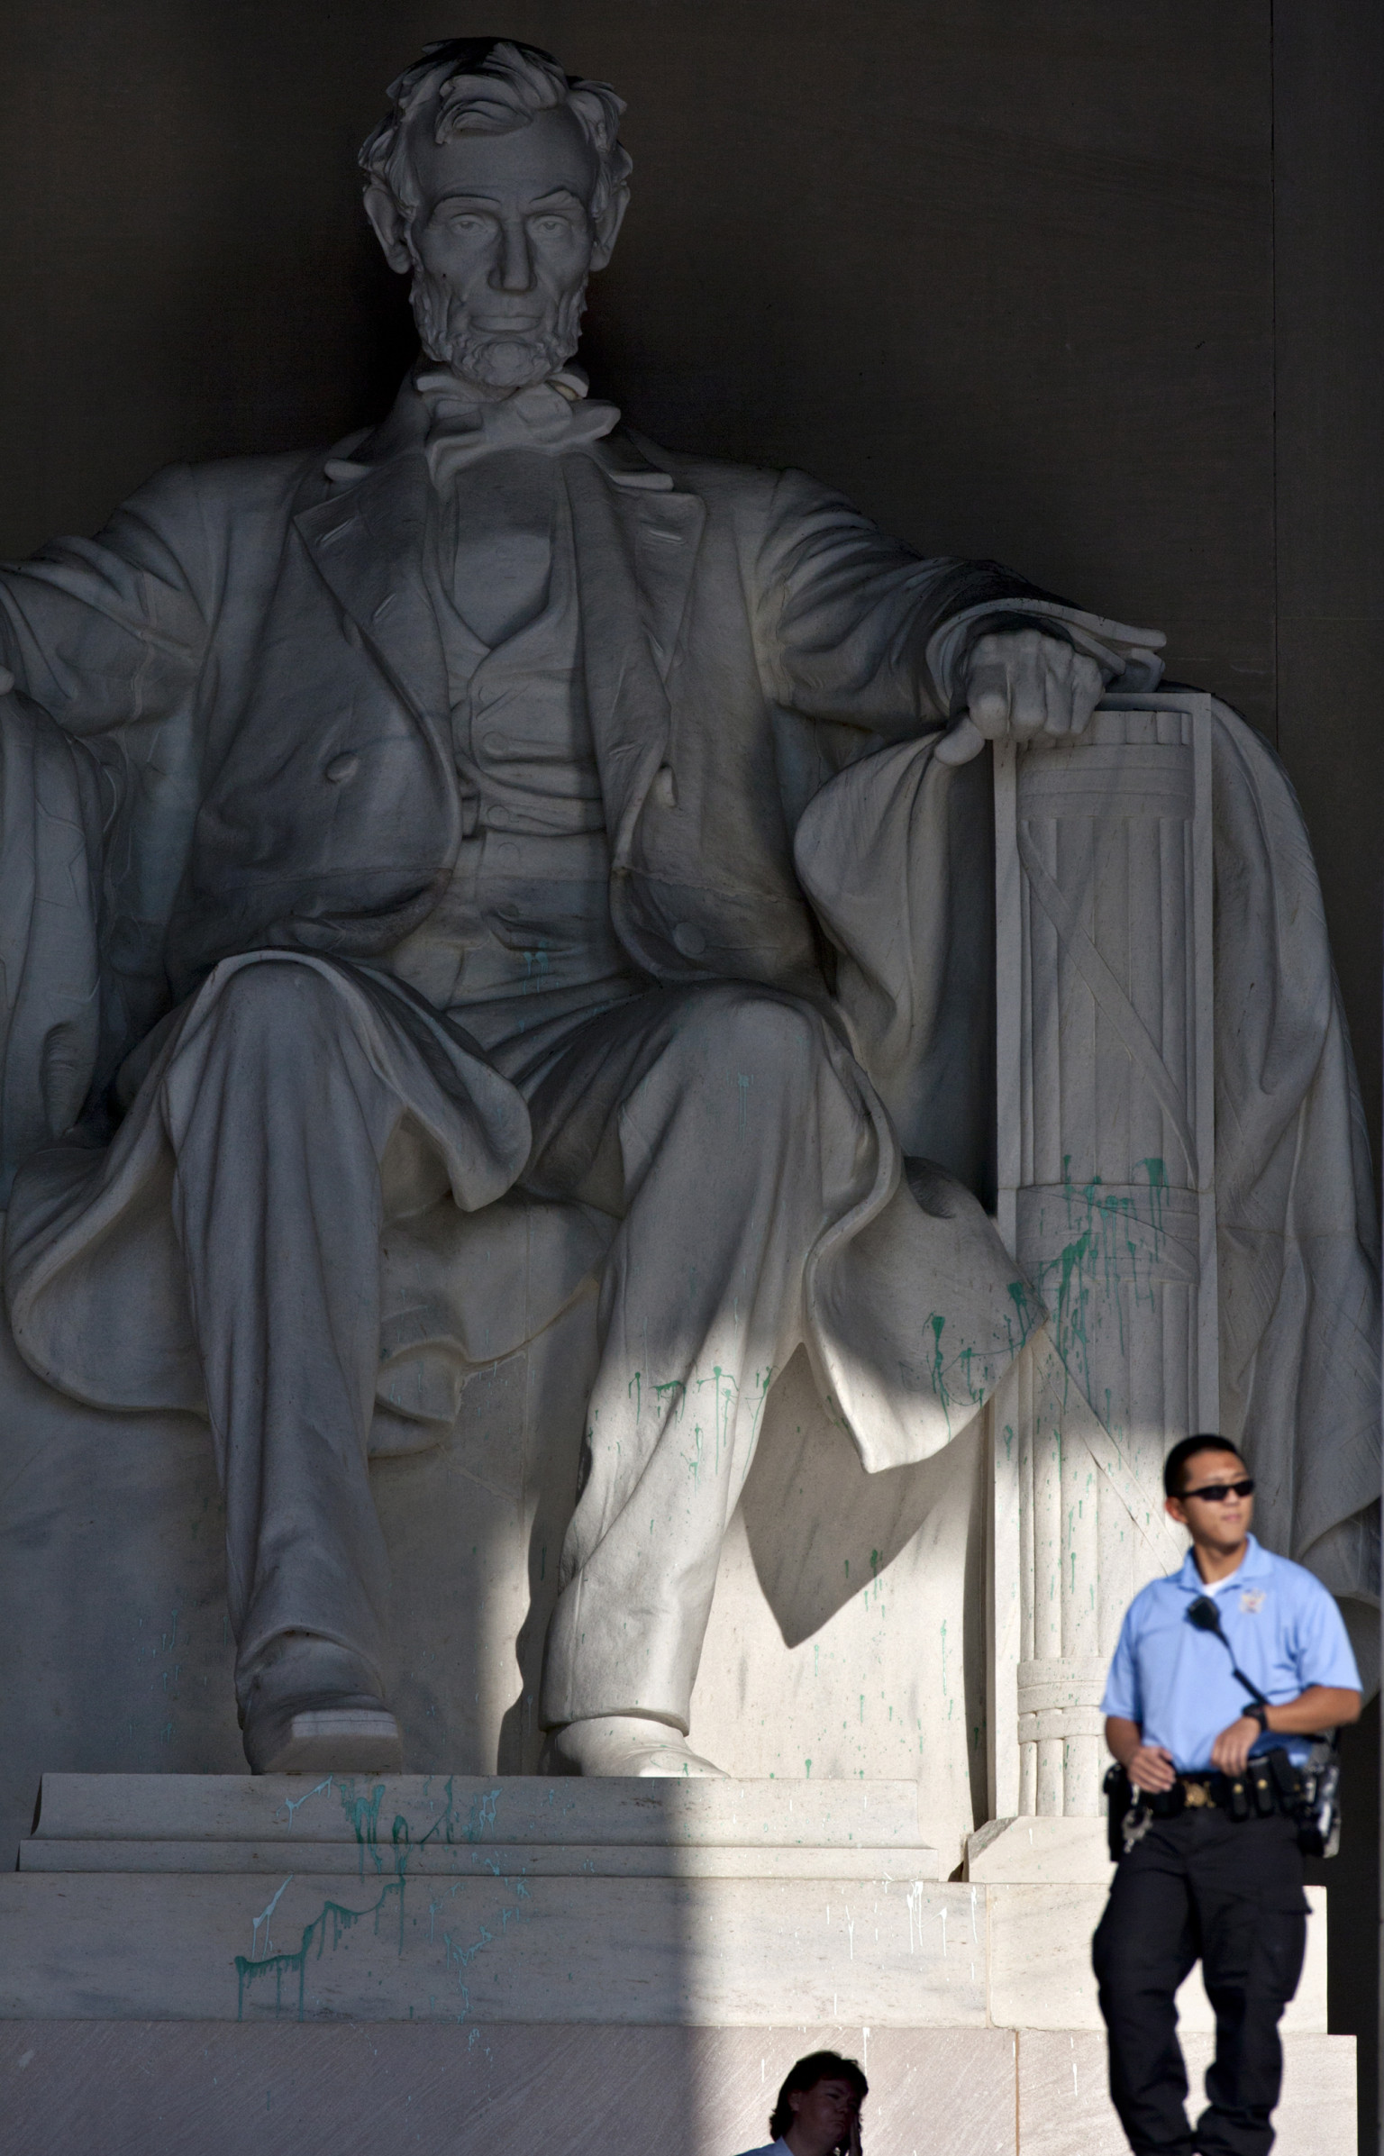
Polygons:
<instances>
[{"instance_id":1,"label":"stone cloth hanging on both sides of the right armrest pillar","mask_svg":"<svg viewBox=\"0 0 1384 2156\"><path fill-rule=\"evenodd\" d=\"M1356 1602L1373 1690L1380 1600L1380 1246L1360 1089L1317 871L1272 748L1214 705L1220 1429L1255 1468L1257 1531ZM933 936L966 938L940 871L929 742L830 780L798 873L841 949L836 998L905 1149L946 1054ZM959 918L957 918L959 914ZM912 1141L912 1149L921 1149ZM1352 1615L1347 1611L1347 1615Z\"/></svg>"}]
</instances>

